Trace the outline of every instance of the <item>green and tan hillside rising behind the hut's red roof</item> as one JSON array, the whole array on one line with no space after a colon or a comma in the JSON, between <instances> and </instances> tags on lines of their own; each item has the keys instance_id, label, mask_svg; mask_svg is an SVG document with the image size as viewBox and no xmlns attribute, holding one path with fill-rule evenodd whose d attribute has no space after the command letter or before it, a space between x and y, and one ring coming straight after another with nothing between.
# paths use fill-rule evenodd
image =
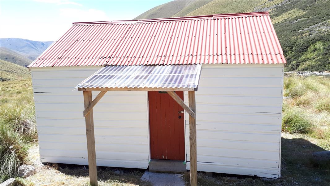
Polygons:
<instances>
[{"instance_id":1,"label":"green and tan hillside rising behind the hut's red roof","mask_svg":"<svg viewBox=\"0 0 330 186\"><path fill-rule=\"evenodd\" d=\"M135 19L269 11L286 70L330 70L329 0L175 0Z\"/></svg>"}]
</instances>

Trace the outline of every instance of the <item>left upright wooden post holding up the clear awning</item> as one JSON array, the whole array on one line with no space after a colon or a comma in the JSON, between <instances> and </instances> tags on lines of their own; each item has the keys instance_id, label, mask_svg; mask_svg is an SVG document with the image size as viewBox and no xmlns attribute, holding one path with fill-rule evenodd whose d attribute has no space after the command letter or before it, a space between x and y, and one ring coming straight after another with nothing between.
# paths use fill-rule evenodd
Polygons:
<instances>
[{"instance_id":1,"label":"left upright wooden post holding up the clear awning","mask_svg":"<svg viewBox=\"0 0 330 186\"><path fill-rule=\"evenodd\" d=\"M92 91L83 91L83 99L86 109L92 103ZM97 186L93 109L91 109L86 114L85 122L86 122L89 181L92 186Z\"/></svg>"}]
</instances>

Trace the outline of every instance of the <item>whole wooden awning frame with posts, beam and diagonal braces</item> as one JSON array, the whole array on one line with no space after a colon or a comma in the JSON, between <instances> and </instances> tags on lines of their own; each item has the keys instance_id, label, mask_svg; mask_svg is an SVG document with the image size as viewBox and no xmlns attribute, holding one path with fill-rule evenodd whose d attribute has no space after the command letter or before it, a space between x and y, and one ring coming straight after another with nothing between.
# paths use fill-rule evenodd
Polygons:
<instances>
[{"instance_id":1,"label":"whole wooden awning frame with posts, beam and diagonal braces","mask_svg":"<svg viewBox=\"0 0 330 186\"><path fill-rule=\"evenodd\" d=\"M84 106L83 116L86 123L87 154L89 181L92 186L97 186L96 170L96 152L94 137L94 118L93 107L101 100L107 91L166 91L173 99L182 106L189 114L189 145L190 145L190 185L197 186L197 145L196 145L196 100L195 89L187 88L78 88L83 91ZM92 91L101 91L92 100ZM189 104L186 105L183 100L174 91L188 91Z\"/></svg>"}]
</instances>

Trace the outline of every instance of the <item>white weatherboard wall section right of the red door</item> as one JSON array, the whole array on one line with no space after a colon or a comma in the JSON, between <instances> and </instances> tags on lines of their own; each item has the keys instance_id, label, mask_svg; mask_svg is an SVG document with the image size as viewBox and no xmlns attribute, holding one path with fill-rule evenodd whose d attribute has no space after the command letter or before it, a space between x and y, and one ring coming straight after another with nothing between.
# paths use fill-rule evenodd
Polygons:
<instances>
[{"instance_id":1,"label":"white weatherboard wall section right of the red door","mask_svg":"<svg viewBox=\"0 0 330 186\"><path fill-rule=\"evenodd\" d=\"M279 177L283 69L283 64L203 64L196 92L198 171ZM184 100L188 104L187 92Z\"/></svg>"}]
</instances>

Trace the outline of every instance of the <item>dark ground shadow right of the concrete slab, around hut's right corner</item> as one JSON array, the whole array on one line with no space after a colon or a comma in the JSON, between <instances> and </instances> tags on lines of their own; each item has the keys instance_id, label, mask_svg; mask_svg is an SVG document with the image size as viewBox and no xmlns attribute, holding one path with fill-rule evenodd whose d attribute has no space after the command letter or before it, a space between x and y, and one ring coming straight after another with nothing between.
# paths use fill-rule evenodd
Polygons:
<instances>
[{"instance_id":1,"label":"dark ground shadow right of the concrete slab, around hut's right corner","mask_svg":"<svg viewBox=\"0 0 330 186\"><path fill-rule=\"evenodd\" d=\"M270 179L252 176L214 173L207 177L203 172L198 174L199 186L242 185L242 186L329 186L330 164L319 167L311 162L312 153L324 151L323 148L303 138L288 139L282 137L281 143L281 178ZM189 173L184 174L189 184Z\"/></svg>"}]
</instances>

